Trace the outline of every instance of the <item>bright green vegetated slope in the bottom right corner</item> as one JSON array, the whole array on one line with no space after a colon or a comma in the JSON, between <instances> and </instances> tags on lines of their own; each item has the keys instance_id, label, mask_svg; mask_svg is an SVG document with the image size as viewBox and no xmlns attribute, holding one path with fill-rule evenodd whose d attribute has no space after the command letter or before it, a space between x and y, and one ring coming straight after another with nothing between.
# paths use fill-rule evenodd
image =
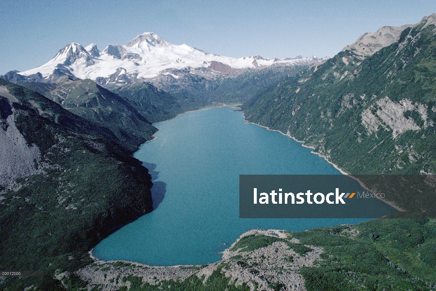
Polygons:
<instances>
[{"instance_id":1,"label":"bright green vegetated slope in the bottom right corner","mask_svg":"<svg viewBox=\"0 0 436 291\"><path fill-rule=\"evenodd\" d=\"M324 248L319 267L300 271L309 291L430 290L436 286L434 221L379 219L292 235Z\"/></svg>"}]
</instances>

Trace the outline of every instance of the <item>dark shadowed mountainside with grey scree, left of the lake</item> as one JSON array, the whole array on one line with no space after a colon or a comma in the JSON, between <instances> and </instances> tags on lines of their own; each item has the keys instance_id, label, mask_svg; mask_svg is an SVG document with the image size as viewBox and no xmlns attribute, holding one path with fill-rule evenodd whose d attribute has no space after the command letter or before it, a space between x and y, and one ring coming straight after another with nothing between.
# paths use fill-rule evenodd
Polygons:
<instances>
[{"instance_id":1,"label":"dark shadowed mountainside with grey scree, left of the lake","mask_svg":"<svg viewBox=\"0 0 436 291\"><path fill-rule=\"evenodd\" d=\"M151 177L110 134L59 104L0 79L0 289L59 290L56 272L152 210Z\"/></svg>"}]
</instances>

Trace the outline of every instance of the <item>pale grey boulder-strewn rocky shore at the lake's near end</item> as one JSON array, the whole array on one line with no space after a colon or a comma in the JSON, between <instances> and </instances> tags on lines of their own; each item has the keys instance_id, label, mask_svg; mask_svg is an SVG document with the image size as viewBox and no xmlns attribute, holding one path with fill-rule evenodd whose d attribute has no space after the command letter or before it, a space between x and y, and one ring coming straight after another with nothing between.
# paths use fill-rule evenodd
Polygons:
<instances>
[{"instance_id":1,"label":"pale grey boulder-strewn rocky shore at the lake's near end","mask_svg":"<svg viewBox=\"0 0 436 291\"><path fill-rule=\"evenodd\" d=\"M278 242L266 243L260 247L244 251L234 246L246 237L268 237ZM297 246L307 249L302 253ZM74 273L88 284L88 290L99 287L105 291L116 291L121 288L131 287L132 278L138 278L141 283L159 287L169 281L182 281L191 278L189 286L202 287L207 285L209 277L221 279L225 285L237 282L236 286L246 284L250 290L271 290L268 279L275 277L285 290L304 290L303 276L299 273L302 267L316 267L320 255L324 252L322 247L300 244L299 240L289 236L289 232L278 229L251 229L238 237L229 248L224 250L219 261L202 265L175 265L175 266L150 266L126 260L103 261L96 259L92 250L89 252L92 264L80 268ZM235 259L238 258L238 259ZM292 258L292 259L289 259ZM252 263L251 268L242 267L245 261ZM245 263L247 265L247 263ZM280 273L277 270L280 269ZM220 274L221 277L217 277ZM58 279L63 279L71 274L62 273ZM215 275L215 276L213 276ZM227 278L230 278L230 282ZM172 283L174 284L174 283ZM172 285L171 284L171 285ZM172 287L172 286L171 286ZM299 287L299 288L296 288ZM190 289L189 289L190 290ZM218 289L217 289L218 290Z\"/></svg>"}]
</instances>

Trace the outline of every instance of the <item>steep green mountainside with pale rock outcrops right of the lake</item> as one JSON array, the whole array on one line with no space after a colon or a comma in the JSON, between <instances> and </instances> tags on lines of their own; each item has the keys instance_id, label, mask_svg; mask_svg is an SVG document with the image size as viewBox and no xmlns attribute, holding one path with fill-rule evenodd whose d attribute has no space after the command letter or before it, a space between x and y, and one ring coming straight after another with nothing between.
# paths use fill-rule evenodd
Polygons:
<instances>
[{"instance_id":1,"label":"steep green mountainside with pale rock outcrops right of the lake","mask_svg":"<svg viewBox=\"0 0 436 291\"><path fill-rule=\"evenodd\" d=\"M400 30L393 28L370 36L374 43L361 37L246 102L245 117L303 141L351 174L435 173L435 25L432 14L403 26L398 39L386 37Z\"/></svg>"}]
</instances>

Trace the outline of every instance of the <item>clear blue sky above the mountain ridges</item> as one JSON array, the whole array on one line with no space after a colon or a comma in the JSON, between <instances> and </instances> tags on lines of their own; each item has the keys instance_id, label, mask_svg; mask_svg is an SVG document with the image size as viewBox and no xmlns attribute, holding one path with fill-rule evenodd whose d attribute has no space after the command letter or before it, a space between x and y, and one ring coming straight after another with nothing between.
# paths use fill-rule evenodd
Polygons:
<instances>
[{"instance_id":1,"label":"clear blue sky above the mountain ridges","mask_svg":"<svg viewBox=\"0 0 436 291\"><path fill-rule=\"evenodd\" d=\"M432 13L435 0L0 0L0 74L42 65L71 42L103 50L142 32L230 57L331 57L364 32Z\"/></svg>"}]
</instances>

